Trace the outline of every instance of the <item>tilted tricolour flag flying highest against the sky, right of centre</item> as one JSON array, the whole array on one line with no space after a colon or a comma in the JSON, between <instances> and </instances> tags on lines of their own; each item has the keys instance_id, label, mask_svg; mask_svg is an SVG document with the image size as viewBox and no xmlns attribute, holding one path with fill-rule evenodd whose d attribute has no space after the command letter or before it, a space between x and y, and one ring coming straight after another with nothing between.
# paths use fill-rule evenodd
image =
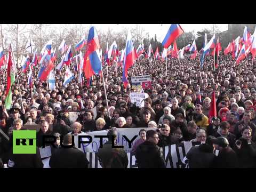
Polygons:
<instances>
[{"instance_id":1,"label":"tilted tricolour flag flying highest against the sky, right of centre","mask_svg":"<svg viewBox=\"0 0 256 192\"><path fill-rule=\"evenodd\" d=\"M167 49L172 42L183 33L184 31L179 24L172 24L162 42L164 48Z\"/></svg>"}]
</instances>

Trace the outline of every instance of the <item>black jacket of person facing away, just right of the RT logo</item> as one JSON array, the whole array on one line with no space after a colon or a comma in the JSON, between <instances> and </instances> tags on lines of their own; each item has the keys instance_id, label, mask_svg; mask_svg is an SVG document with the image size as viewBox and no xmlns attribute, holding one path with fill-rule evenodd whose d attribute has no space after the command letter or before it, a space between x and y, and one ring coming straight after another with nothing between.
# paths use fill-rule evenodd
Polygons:
<instances>
[{"instance_id":1,"label":"black jacket of person facing away, just right of the RT logo","mask_svg":"<svg viewBox=\"0 0 256 192\"><path fill-rule=\"evenodd\" d=\"M49 165L52 168L88 168L89 162L79 149L62 147L52 154Z\"/></svg>"}]
</instances>

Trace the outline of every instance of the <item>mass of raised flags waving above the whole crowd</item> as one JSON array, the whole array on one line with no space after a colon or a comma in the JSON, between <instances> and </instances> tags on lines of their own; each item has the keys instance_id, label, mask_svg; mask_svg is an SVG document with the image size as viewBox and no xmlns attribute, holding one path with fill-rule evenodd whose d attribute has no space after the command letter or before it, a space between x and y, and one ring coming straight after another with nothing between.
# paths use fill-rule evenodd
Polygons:
<instances>
[{"instance_id":1,"label":"mass of raised flags waving above the whole crowd","mask_svg":"<svg viewBox=\"0 0 256 192\"><path fill-rule=\"evenodd\" d=\"M73 63L75 62L75 71L77 71L79 74L79 78L78 78L79 82L83 82L82 71L84 71L85 78L88 79L95 74L101 73L102 65L105 65L105 61L107 65L113 65L113 63L116 62L117 66L122 66L123 68L122 80L124 85L126 86L129 83L127 79L128 70L134 64L137 58L139 58L141 55L145 55L146 58L150 59L151 53L152 53L154 60L164 61L168 57L168 55L171 55L171 57L173 58L183 59L184 52L190 52L191 53L190 59L196 59L196 57L198 57L200 61L200 65L201 67L203 67L205 55L208 55L211 53L211 55L213 55L215 59L215 63L214 63L215 65L213 67L218 67L218 56L219 56L219 51L221 50L221 46L220 46L219 38L217 38L215 34L212 36L209 42L207 42L207 35L205 34L203 48L201 49L201 51L198 52L195 39L192 44L188 44L187 46L182 47L180 50L178 49L175 39L177 39L183 33L184 31L179 24L172 24L169 30L167 31L167 34L162 42L162 45L164 47L162 53L159 52L158 47L156 47L156 51L154 53L151 44L149 45L146 53L143 44L140 44L138 48L135 49L134 43L132 41L132 36L129 32L127 35L126 45L124 49L122 49L121 51L118 51L118 46L115 41L110 45L110 47L108 47L108 42L107 42L107 49L102 55L102 50L100 47L97 30L95 29L95 27L91 27L89 30L89 35L87 37L87 41L85 36L83 36L81 41L79 41L76 44L75 50L80 52L74 57L73 57L73 53L71 52L71 45L68 46L65 40L63 39L58 49L62 55L61 61L58 63L58 66L56 67L56 69L61 70L64 65L70 66L70 62L73 61ZM256 32L254 31L254 34L251 35L249 30L245 26L243 37L241 38L240 36L238 36L235 40L231 41L226 47L226 49L224 50L224 54L231 53L233 55L233 58L236 58L237 64L241 60L245 59L246 55L250 52L252 53L254 58L256 55L255 36L256 36ZM83 47L85 47L84 55L81 51ZM35 51L33 52L34 49ZM25 62L22 63L22 72L27 73L27 71L29 70L29 77L28 77L29 85L32 86L31 84L32 84L32 76L33 76L33 67L31 66L36 66L38 62L40 65L38 78L41 81L45 81L47 80L47 77L49 77L48 78L49 87L50 89L55 89L55 79L54 79L55 75L52 69L54 68L54 62L57 61L57 57L55 54L56 48L55 49L52 48L52 41L50 40L49 42L47 42L46 45L41 50L40 54L38 55L34 42L29 36L28 43L26 45L26 50L29 53L33 54L33 59L31 63L28 55L26 57ZM11 54L10 51L9 51L9 54ZM199 54L201 54L201 57L199 56ZM7 77L9 77L7 78L8 86L10 86L11 82L13 82L13 81L10 81L10 76L11 76L10 69L13 66L10 62L13 62L13 61L10 61L10 58L9 59L6 58L3 52L3 47L0 47L0 67L5 63L8 64L8 67L7 67L8 68ZM67 68L65 81L63 84L67 85L73 78L75 78L74 74L71 73L69 68ZM8 90L9 89L6 90L6 96L7 94L9 94Z\"/></svg>"}]
</instances>

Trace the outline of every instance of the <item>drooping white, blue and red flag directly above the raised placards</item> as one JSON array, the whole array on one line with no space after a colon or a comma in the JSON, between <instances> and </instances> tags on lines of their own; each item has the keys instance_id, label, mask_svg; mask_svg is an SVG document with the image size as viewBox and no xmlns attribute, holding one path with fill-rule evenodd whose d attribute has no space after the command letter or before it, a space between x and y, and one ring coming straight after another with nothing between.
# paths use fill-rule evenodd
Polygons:
<instances>
[{"instance_id":1,"label":"drooping white, blue and red flag directly above the raised placards","mask_svg":"<svg viewBox=\"0 0 256 192\"><path fill-rule=\"evenodd\" d=\"M136 49L134 47L131 32L128 31L126 46L125 46L125 55L124 55L124 67L123 67L123 77L124 87L126 88L128 84L128 69L133 65L134 61L137 59Z\"/></svg>"}]
</instances>

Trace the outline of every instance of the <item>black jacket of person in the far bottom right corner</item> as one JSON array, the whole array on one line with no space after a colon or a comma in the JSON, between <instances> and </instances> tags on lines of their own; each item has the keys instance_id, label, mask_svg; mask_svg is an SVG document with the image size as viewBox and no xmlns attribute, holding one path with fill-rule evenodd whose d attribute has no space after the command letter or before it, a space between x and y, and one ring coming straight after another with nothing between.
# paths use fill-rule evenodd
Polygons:
<instances>
[{"instance_id":1,"label":"black jacket of person in the far bottom right corner","mask_svg":"<svg viewBox=\"0 0 256 192\"><path fill-rule=\"evenodd\" d=\"M255 168L256 167L256 144L252 141L248 145L246 139L239 139L242 143L241 149L235 145L234 150L238 157L239 167L241 168Z\"/></svg>"}]
</instances>

